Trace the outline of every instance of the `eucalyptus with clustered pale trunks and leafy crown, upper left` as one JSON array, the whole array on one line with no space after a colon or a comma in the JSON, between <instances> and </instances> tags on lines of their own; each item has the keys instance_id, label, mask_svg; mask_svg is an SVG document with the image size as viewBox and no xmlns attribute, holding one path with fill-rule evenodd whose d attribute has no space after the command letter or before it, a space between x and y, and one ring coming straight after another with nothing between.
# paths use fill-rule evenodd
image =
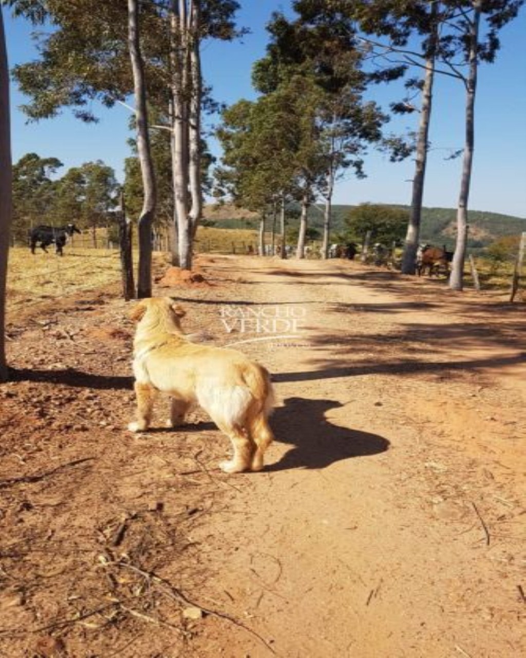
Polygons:
<instances>
[{"instance_id":1,"label":"eucalyptus with clustered pale trunks and leafy crown, upper left","mask_svg":"<svg viewBox=\"0 0 526 658\"><path fill-rule=\"evenodd\" d=\"M114 0L4 1L34 22L47 18L55 28L41 41L40 59L14 69L22 91L30 97L24 108L30 118L53 117L61 107L71 107L78 118L93 121L90 101L98 99L111 107L133 91L128 10L135 2L127 8ZM190 267L191 243L202 209L201 111L209 101L200 49L205 39L229 40L243 32L236 30L233 20L239 3L137 0L137 6L147 97L168 117L155 130L166 130L171 139L179 260L181 266Z\"/></svg>"}]
</instances>

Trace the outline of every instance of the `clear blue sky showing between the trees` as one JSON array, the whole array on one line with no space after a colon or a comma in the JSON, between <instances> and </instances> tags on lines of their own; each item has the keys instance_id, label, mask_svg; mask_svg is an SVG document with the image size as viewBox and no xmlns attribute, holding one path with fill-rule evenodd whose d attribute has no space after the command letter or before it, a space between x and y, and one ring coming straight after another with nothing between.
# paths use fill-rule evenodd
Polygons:
<instances>
[{"instance_id":1,"label":"clear blue sky showing between the trees","mask_svg":"<svg viewBox=\"0 0 526 658\"><path fill-rule=\"evenodd\" d=\"M205 43L203 70L214 97L234 103L254 98L251 66L264 55L265 25L275 10L289 11L289 2L241 0L238 23L251 34L235 43ZM24 20L10 18L3 9L10 65L36 59L31 32ZM479 71L475 109L475 159L469 207L526 217L526 12L501 33L502 48L496 63L483 64ZM387 108L398 99L395 86L377 87L373 97ZM70 166L97 159L114 168L122 179L124 159L129 155L130 111L118 105L108 111L95 104L98 124L83 124L68 110L53 120L26 123L18 110L24 97L12 85L12 151L16 161L30 151L41 157L58 157L65 172ZM391 122L393 132L416 128L418 117L408 115ZM446 161L447 149L464 144L464 88L457 80L439 76L435 85L424 204L455 207L458 199L461 159ZM220 155L218 147L212 150ZM371 153L366 159L368 178L341 180L335 203L410 203L412 161L392 164L386 157Z\"/></svg>"}]
</instances>

